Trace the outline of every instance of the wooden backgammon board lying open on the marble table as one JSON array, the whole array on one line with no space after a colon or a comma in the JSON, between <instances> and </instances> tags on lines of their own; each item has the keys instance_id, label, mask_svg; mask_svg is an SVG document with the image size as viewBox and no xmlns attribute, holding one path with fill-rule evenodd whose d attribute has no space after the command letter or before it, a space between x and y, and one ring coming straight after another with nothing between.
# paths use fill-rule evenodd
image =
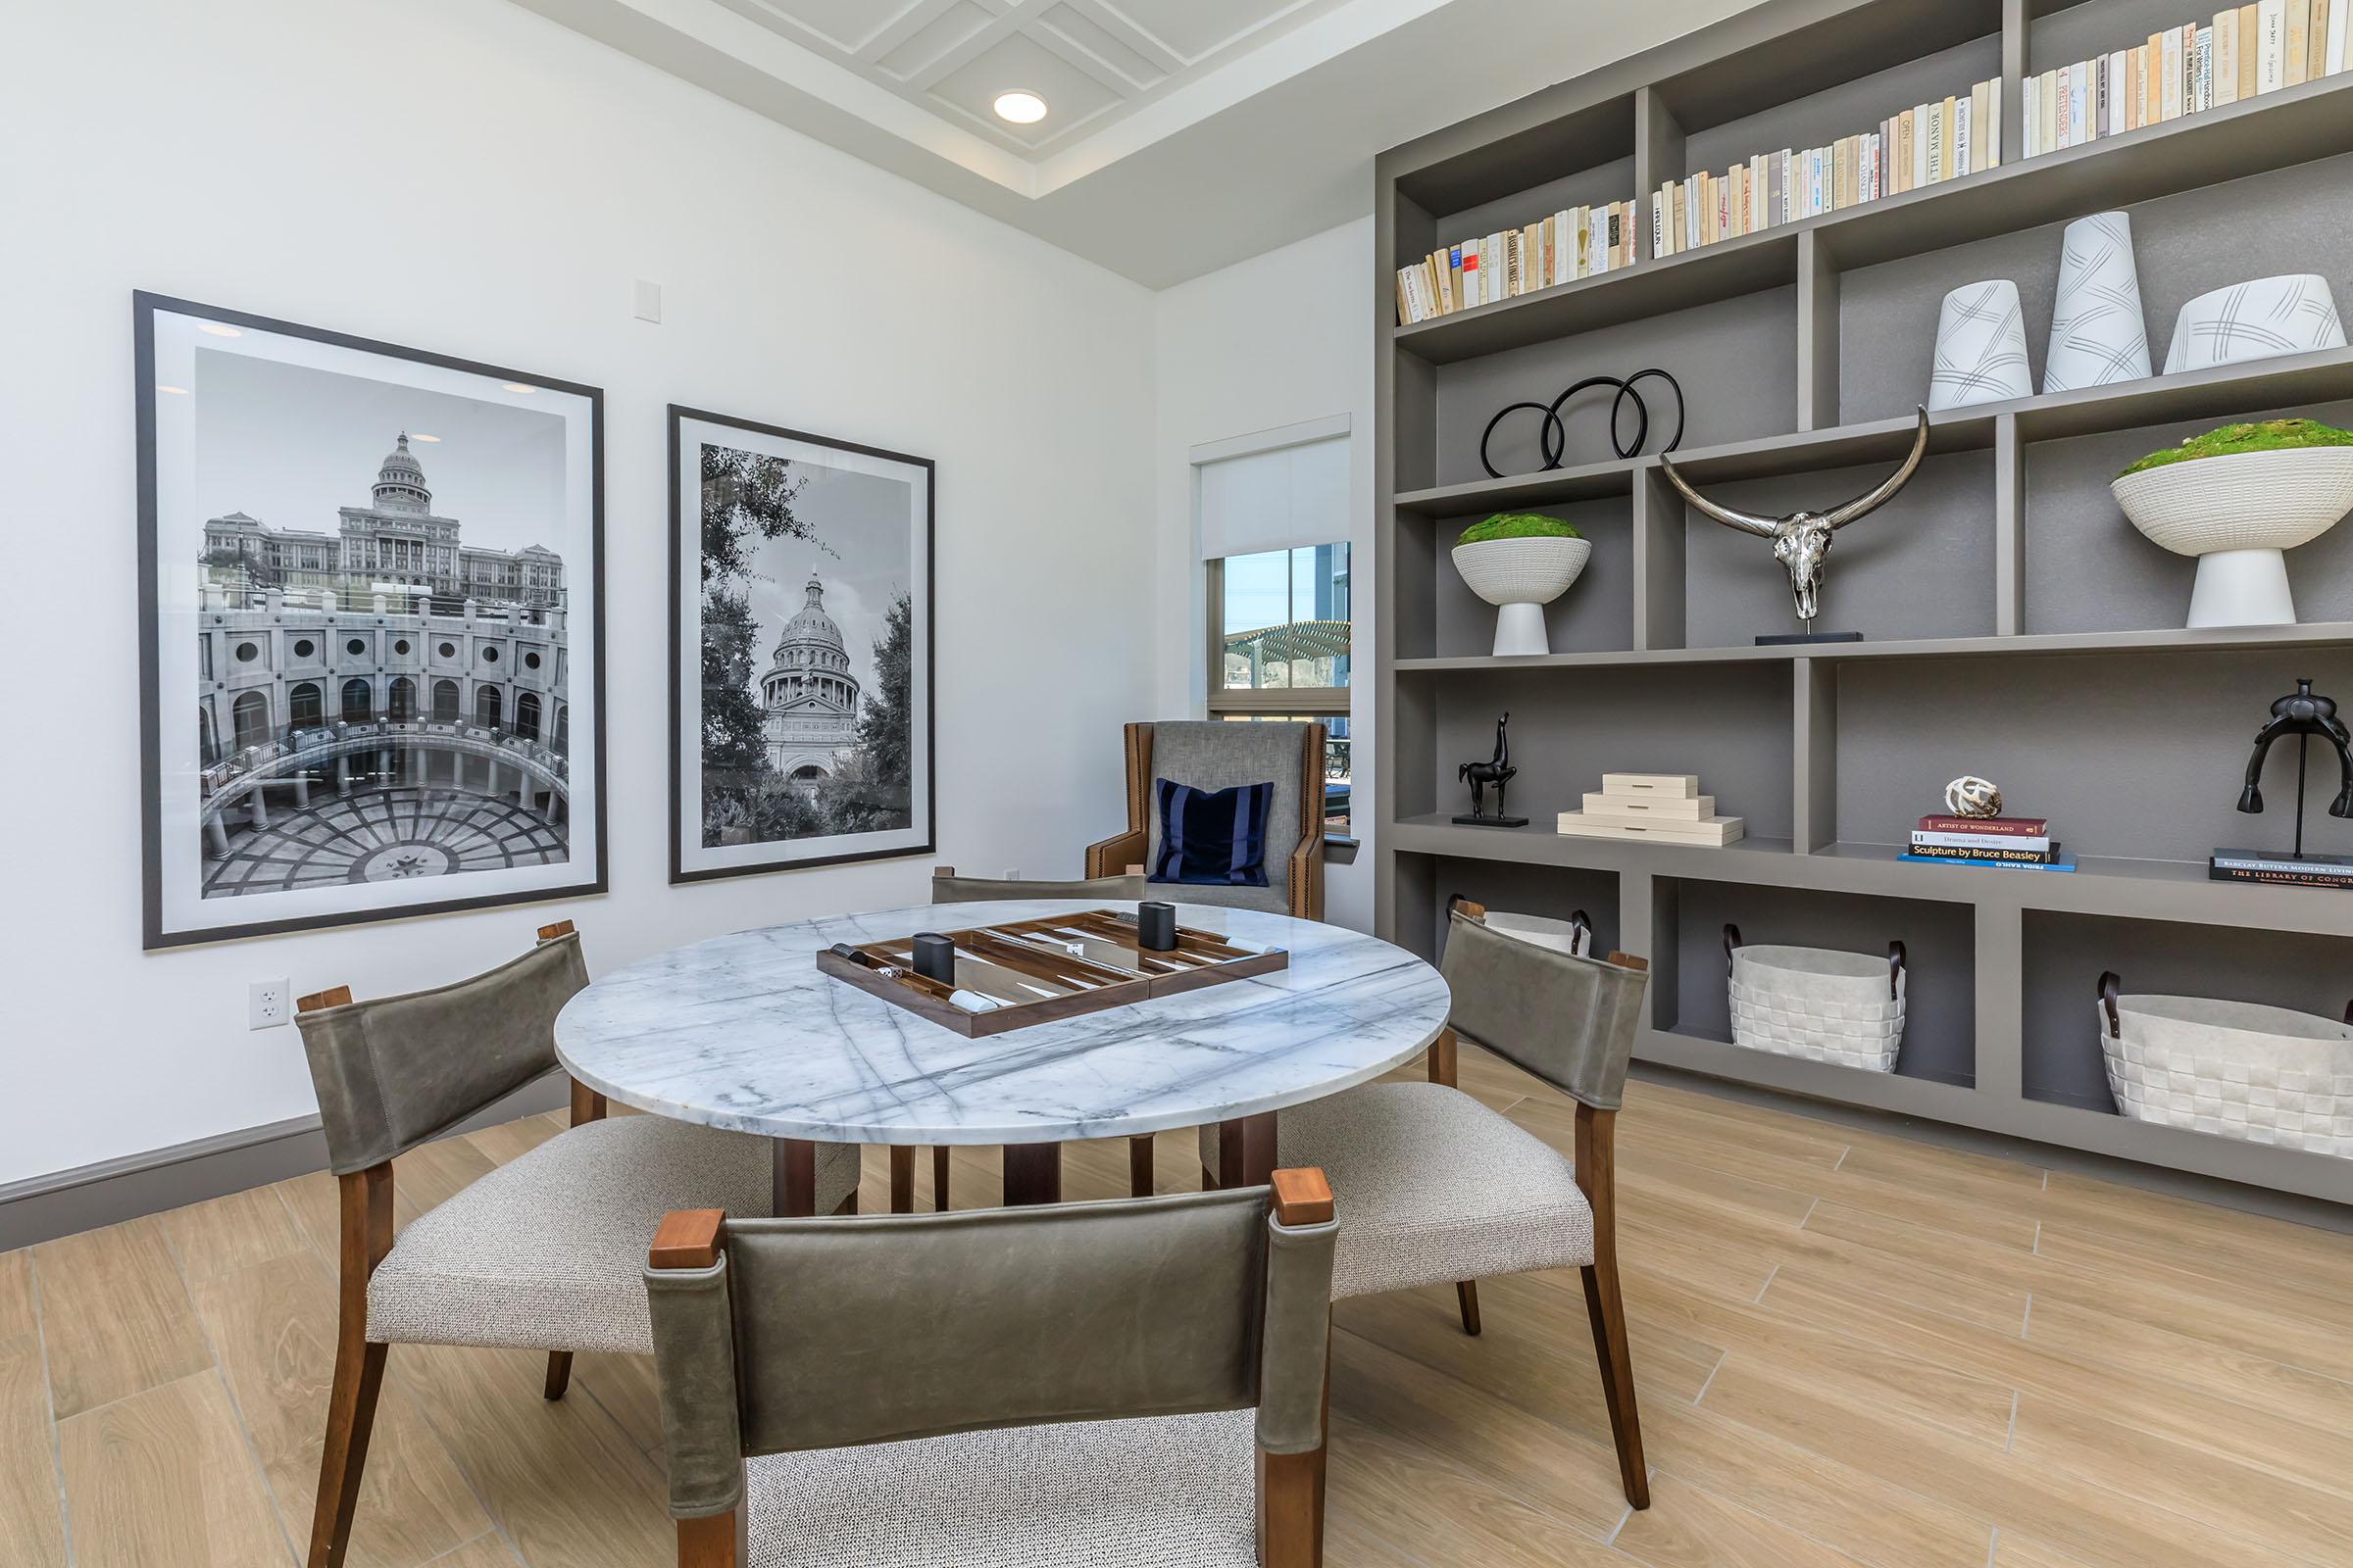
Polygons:
<instances>
[{"instance_id":1,"label":"wooden backgammon board lying open on the marble table","mask_svg":"<svg viewBox=\"0 0 2353 1568\"><path fill-rule=\"evenodd\" d=\"M946 1030L979 1037L1292 964L1282 947L1261 952L1191 926L1176 926L1176 947L1167 952L1141 947L1136 917L1115 910L1014 919L941 936L955 943L955 985L915 973L913 936L826 947L816 954L816 969ZM976 997L984 1006L962 1006L951 997Z\"/></svg>"}]
</instances>

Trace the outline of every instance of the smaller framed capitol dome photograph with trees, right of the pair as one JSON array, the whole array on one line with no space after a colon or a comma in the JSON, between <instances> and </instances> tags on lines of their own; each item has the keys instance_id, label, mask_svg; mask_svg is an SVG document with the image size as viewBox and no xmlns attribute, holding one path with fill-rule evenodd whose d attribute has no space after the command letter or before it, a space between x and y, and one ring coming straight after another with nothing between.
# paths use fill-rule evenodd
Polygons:
<instances>
[{"instance_id":1,"label":"smaller framed capitol dome photograph with trees, right of the pair","mask_svg":"<svg viewBox=\"0 0 2353 1568\"><path fill-rule=\"evenodd\" d=\"M929 853L932 461L671 409L671 882Z\"/></svg>"}]
</instances>

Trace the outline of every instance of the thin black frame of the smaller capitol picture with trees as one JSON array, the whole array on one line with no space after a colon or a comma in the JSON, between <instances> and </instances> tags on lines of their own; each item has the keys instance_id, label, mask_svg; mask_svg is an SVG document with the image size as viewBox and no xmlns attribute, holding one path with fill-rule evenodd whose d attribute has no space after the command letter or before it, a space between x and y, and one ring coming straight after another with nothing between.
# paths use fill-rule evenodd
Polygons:
<instances>
[{"instance_id":1,"label":"thin black frame of the smaller capitol picture with trees","mask_svg":"<svg viewBox=\"0 0 2353 1568\"><path fill-rule=\"evenodd\" d=\"M701 682L701 637L699 628L692 628L694 649L689 651L689 625L687 625L687 569L689 569L689 520L685 512L685 444L687 423L715 425L720 430L739 430L755 437L769 437L779 442L795 442L805 447L819 447L826 451L852 454L861 458L878 458L882 463L899 463L911 470L922 473L922 595L913 604L913 616L922 628L922 811L920 820L911 827L920 830L915 837L920 842L889 844L875 849L854 849L838 853L814 853L814 856L776 856L769 860L741 863L741 865L687 865L687 823L701 823L701 802L687 799L687 776L685 776L685 726L689 712L701 712L699 682ZM939 465L932 458L915 456L908 451L892 451L887 447L868 447L864 442L845 442L831 435L816 435L812 430L793 430L788 425L769 425L753 418L739 418L734 414L715 414L711 409L696 409L687 404L668 407L671 425L671 884L687 886L696 882L718 882L727 877L767 877L774 872L798 872L814 870L819 865L854 865L866 860L906 860L915 856L932 856L939 849L939 639L936 639L936 604L939 604L939 574L936 574L936 550L939 550ZM694 583L701 585L701 520L694 520ZM689 658L692 654L692 658ZM689 679L694 686L689 689ZM791 844L791 839L776 839L776 844Z\"/></svg>"}]
</instances>

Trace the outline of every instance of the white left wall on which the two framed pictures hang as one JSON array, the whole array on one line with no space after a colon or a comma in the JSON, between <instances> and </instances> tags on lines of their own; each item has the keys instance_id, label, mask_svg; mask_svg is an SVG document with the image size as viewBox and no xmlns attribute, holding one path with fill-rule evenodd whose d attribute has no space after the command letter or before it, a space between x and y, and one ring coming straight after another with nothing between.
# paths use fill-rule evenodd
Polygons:
<instances>
[{"instance_id":1,"label":"white left wall on which the two framed pictures hang","mask_svg":"<svg viewBox=\"0 0 2353 1568\"><path fill-rule=\"evenodd\" d=\"M504 0L5 9L0 1182L308 1114L254 978L922 898L929 858L666 886L673 400L939 461L941 860L1073 875L1120 827L1118 726L1162 705L1144 289ZM141 954L132 289L605 388L607 898Z\"/></svg>"}]
</instances>

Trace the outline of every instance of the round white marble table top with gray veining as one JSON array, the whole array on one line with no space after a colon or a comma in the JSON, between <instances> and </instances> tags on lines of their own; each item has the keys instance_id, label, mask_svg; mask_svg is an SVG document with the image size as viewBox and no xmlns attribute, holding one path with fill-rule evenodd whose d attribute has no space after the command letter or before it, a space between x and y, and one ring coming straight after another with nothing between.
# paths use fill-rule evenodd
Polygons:
<instances>
[{"instance_id":1,"label":"round white marble table top with gray veining","mask_svg":"<svg viewBox=\"0 0 2353 1568\"><path fill-rule=\"evenodd\" d=\"M1186 926L1287 947L1289 969L967 1039L816 969L833 943L958 931L1101 900L958 903L718 936L572 997L555 1053L624 1105L772 1138L1059 1143L1301 1105L1381 1077L1447 1020L1447 983L1384 940L1179 905Z\"/></svg>"}]
</instances>

